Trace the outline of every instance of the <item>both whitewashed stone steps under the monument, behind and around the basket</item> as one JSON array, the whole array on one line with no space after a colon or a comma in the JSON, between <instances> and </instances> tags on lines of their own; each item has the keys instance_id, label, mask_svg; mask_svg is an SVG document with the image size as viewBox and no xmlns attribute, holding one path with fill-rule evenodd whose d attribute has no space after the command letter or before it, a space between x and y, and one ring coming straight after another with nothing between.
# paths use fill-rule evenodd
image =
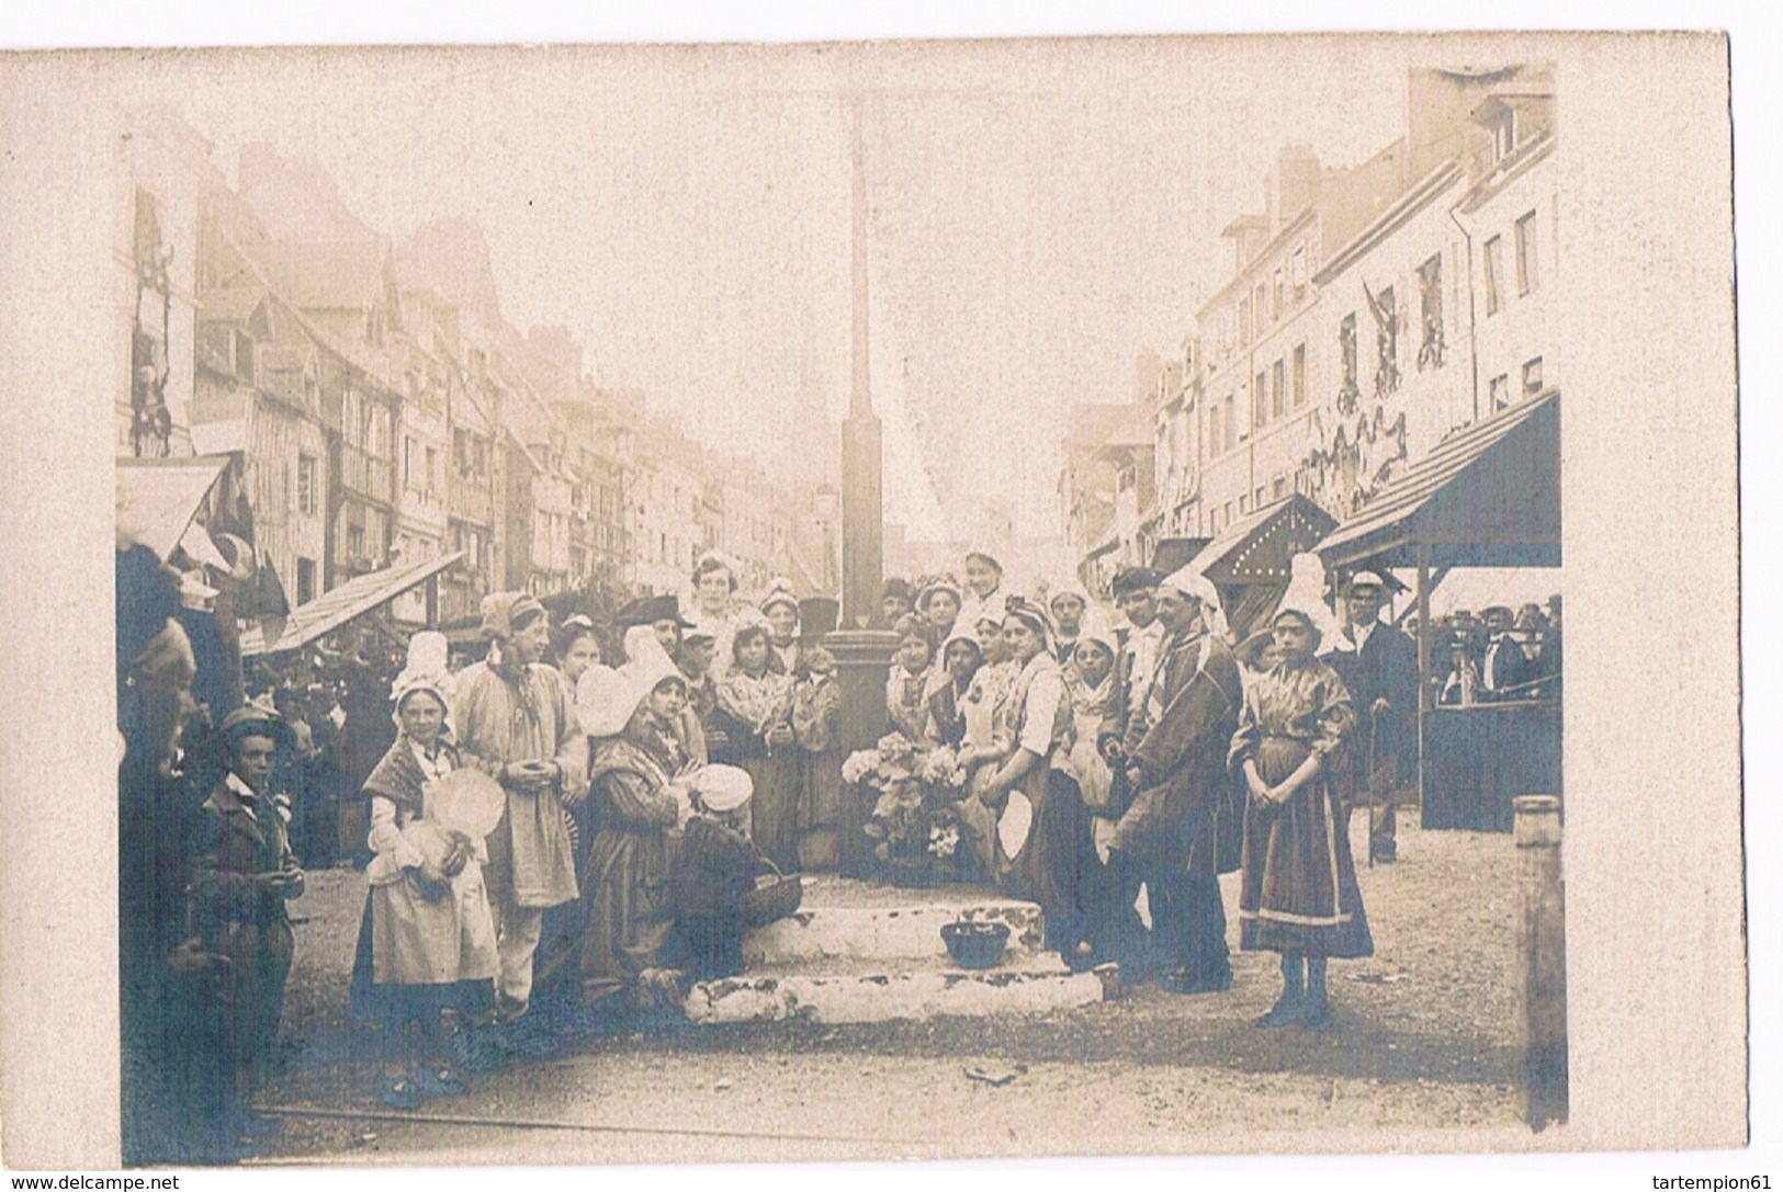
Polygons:
<instances>
[{"instance_id":1,"label":"both whitewashed stone steps under the monument, behind and around the basket","mask_svg":"<svg viewBox=\"0 0 1783 1192\"><path fill-rule=\"evenodd\" d=\"M1009 925L998 964L963 969L941 941L954 921ZM1041 948L1039 907L972 887L924 891L806 878L799 912L744 939L745 971L701 982L694 1023L884 1023L1045 1014L1104 998L1107 975L1072 973Z\"/></svg>"}]
</instances>

